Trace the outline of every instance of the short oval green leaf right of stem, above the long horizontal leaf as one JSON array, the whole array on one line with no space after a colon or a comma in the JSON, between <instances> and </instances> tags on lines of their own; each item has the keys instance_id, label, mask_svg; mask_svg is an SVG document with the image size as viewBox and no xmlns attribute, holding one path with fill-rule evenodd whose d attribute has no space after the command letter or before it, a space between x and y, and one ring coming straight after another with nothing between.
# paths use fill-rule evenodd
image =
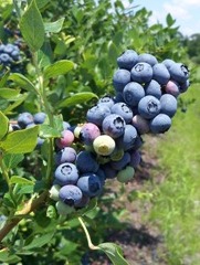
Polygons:
<instances>
[{"instance_id":1,"label":"short oval green leaf right of stem, above the long horizontal leaf","mask_svg":"<svg viewBox=\"0 0 200 265\"><path fill-rule=\"evenodd\" d=\"M74 63L72 61L69 60L57 61L44 70L44 77L49 80L52 77L56 77L59 75L66 74L69 71L73 70L73 67Z\"/></svg>"}]
</instances>

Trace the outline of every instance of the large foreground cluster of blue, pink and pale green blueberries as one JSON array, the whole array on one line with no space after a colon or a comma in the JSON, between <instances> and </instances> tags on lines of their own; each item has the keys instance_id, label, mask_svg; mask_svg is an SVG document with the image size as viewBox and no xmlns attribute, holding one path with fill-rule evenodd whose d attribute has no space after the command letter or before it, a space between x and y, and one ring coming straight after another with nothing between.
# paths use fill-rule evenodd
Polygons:
<instances>
[{"instance_id":1,"label":"large foreground cluster of blue, pink and pale green blueberries","mask_svg":"<svg viewBox=\"0 0 200 265\"><path fill-rule=\"evenodd\" d=\"M167 131L177 97L189 87L187 66L170 59L159 63L151 54L127 50L117 64L115 96L106 95L91 107L85 124L73 129L66 124L55 141L50 197L60 214L87 205L103 192L106 179L131 180L140 162L141 135Z\"/></svg>"}]
</instances>

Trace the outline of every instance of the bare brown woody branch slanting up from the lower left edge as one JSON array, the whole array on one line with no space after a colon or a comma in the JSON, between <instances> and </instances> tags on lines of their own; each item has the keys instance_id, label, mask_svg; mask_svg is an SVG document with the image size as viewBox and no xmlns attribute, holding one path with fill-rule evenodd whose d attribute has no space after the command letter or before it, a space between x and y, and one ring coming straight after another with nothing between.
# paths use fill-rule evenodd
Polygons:
<instances>
[{"instance_id":1,"label":"bare brown woody branch slanting up from the lower left edge","mask_svg":"<svg viewBox=\"0 0 200 265\"><path fill-rule=\"evenodd\" d=\"M18 212L18 215L8 220L4 226L0 230L0 242L7 236L7 234L29 213L36 210L48 199L49 191L44 191L36 199L30 199L24 208Z\"/></svg>"}]
</instances>

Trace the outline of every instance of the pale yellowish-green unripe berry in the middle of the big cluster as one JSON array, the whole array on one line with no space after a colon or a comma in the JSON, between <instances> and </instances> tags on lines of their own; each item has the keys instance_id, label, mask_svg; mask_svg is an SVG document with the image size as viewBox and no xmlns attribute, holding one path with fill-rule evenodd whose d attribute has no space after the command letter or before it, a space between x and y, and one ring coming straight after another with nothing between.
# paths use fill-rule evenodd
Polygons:
<instances>
[{"instance_id":1,"label":"pale yellowish-green unripe berry in the middle of the big cluster","mask_svg":"<svg viewBox=\"0 0 200 265\"><path fill-rule=\"evenodd\" d=\"M93 147L96 153L109 156L115 149L115 141L108 135L101 135L94 140Z\"/></svg>"}]
</instances>

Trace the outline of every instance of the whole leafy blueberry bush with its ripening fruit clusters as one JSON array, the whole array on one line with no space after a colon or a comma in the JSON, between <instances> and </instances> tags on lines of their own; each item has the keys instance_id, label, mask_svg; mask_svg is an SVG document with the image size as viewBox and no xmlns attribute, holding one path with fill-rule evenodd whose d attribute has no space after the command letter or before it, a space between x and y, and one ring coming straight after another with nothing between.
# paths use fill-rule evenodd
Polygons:
<instances>
[{"instance_id":1,"label":"whole leafy blueberry bush with its ripening fruit clusters","mask_svg":"<svg viewBox=\"0 0 200 265\"><path fill-rule=\"evenodd\" d=\"M190 85L175 20L148 26L150 12L122 1L1 10L0 261L85 264L87 242L128 264L88 226L106 180L133 180L143 135L169 130Z\"/></svg>"}]
</instances>

